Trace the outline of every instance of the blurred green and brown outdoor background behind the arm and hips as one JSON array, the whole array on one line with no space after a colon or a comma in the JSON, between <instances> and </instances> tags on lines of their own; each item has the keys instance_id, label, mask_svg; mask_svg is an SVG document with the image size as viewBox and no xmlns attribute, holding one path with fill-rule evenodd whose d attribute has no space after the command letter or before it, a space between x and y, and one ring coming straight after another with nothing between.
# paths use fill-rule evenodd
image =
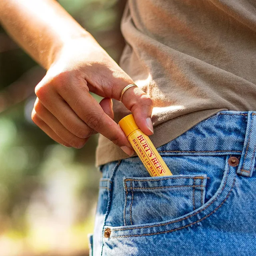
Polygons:
<instances>
[{"instance_id":1,"label":"blurred green and brown outdoor background behind the arm and hips","mask_svg":"<svg viewBox=\"0 0 256 256\"><path fill-rule=\"evenodd\" d=\"M125 1L58 2L118 62ZM77 150L34 125L34 87L45 72L0 27L1 256L88 255L100 178L92 150L98 136Z\"/></svg>"}]
</instances>

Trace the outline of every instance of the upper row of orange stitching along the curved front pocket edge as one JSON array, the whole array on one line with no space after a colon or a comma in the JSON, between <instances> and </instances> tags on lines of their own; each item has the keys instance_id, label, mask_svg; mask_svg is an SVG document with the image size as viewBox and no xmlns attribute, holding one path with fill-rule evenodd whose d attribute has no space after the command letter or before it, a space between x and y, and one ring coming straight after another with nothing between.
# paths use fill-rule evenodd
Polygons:
<instances>
[{"instance_id":1,"label":"upper row of orange stitching along the curved front pocket edge","mask_svg":"<svg viewBox=\"0 0 256 256\"><path fill-rule=\"evenodd\" d=\"M181 218L181 219L178 219L178 220L173 220L171 222L167 222L167 223L162 223L162 224L158 224L158 225L150 225L150 226L142 226L142 227L134 227L134 228L118 228L118 229L112 229L111 231L119 231L119 230L131 230L131 229L140 229L140 228L152 228L152 227L157 227L157 226L166 226L168 224L172 224L172 223L175 223L175 222L179 222L181 220L185 220L185 219L188 219L200 212L202 212L203 210L205 210L206 208L208 208L210 205L212 205L217 199L218 199L218 196L220 196L220 194L222 193L222 191L224 190L225 186L226 186L226 182L228 180L228 174L229 174L229 170L230 170L230 166L228 166L228 172L226 174L226 178L225 178L225 182L224 182L224 185L223 185L223 188L222 190L219 192L219 194L216 196L216 198L214 198L214 200L212 200L212 202L210 202L210 204L207 204L204 208L202 208L201 210L198 210L197 212L194 212L193 214L190 214L184 218ZM234 182L236 180L236 176L234 178ZM232 185L232 188L230 190L230 192L232 191L233 187L234 187L234 182L233 182L233 185ZM228 195L229 196L229 195Z\"/></svg>"}]
</instances>

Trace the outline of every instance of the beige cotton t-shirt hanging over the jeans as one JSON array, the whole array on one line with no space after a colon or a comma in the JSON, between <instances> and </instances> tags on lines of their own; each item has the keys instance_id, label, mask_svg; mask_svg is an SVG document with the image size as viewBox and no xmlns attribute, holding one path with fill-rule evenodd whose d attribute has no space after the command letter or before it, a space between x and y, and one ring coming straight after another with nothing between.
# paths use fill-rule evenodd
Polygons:
<instances>
[{"instance_id":1,"label":"beige cotton t-shirt hanging over the jeans","mask_svg":"<svg viewBox=\"0 0 256 256\"><path fill-rule=\"evenodd\" d=\"M154 101L156 147L220 110L256 110L255 0L128 0L121 30L120 66ZM113 101L118 122L130 112ZM126 157L100 135L96 165Z\"/></svg>"}]
</instances>

